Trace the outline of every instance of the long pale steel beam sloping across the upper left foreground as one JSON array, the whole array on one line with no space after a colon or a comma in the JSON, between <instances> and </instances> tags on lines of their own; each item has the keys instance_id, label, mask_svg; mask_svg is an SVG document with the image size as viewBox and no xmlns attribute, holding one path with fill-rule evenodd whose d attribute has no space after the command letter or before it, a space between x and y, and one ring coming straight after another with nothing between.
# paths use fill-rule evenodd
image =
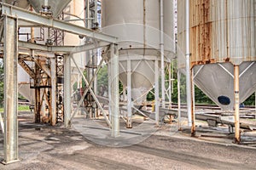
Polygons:
<instances>
[{"instance_id":1,"label":"long pale steel beam sloping across the upper left foreground","mask_svg":"<svg viewBox=\"0 0 256 170\"><path fill-rule=\"evenodd\" d=\"M91 37L103 42L117 42L117 37L109 36L99 31L92 31L82 26L76 26L71 23L67 23L61 20L55 20L40 14L32 13L22 8L17 8L6 3L1 4L2 15L8 15L9 17L16 17L18 20L25 20L39 26L45 26L50 28L67 31L79 36Z\"/></svg>"}]
</instances>

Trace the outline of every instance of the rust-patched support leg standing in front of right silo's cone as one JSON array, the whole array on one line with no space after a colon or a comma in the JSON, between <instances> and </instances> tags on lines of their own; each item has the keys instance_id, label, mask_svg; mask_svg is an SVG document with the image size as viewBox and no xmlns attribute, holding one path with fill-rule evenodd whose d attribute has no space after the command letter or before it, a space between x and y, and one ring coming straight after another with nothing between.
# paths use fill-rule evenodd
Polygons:
<instances>
[{"instance_id":1,"label":"rust-patched support leg standing in front of right silo's cone","mask_svg":"<svg viewBox=\"0 0 256 170\"><path fill-rule=\"evenodd\" d=\"M239 120L239 65L234 65L234 99L235 99L235 143L240 143Z\"/></svg>"}]
</instances>

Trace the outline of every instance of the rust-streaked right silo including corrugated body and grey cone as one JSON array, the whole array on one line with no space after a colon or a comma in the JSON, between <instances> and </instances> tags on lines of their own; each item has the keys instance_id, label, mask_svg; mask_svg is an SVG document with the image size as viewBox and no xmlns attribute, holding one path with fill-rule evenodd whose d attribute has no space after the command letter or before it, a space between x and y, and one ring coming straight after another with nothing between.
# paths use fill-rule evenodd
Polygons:
<instances>
[{"instance_id":1,"label":"rust-streaked right silo including corrugated body and grey cone","mask_svg":"<svg viewBox=\"0 0 256 170\"><path fill-rule=\"evenodd\" d=\"M256 90L256 0L189 3L193 80L223 110L234 108L234 65L240 103ZM178 66L185 67L185 1L177 1Z\"/></svg>"}]
</instances>

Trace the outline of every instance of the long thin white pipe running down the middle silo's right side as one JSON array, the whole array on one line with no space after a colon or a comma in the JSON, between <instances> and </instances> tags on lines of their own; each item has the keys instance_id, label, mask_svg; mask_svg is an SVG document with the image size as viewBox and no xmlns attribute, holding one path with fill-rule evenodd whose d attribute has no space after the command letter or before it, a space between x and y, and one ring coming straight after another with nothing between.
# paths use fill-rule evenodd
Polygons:
<instances>
[{"instance_id":1,"label":"long thin white pipe running down the middle silo's right side","mask_svg":"<svg viewBox=\"0 0 256 170\"><path fill-rule=\"evenodd\" d=\"M166 108L166 75L165 75L165 51L164 51L164 4L160 0L160 55L161 55L161 93L162 107Z\"/></svg>"}]
</instances>

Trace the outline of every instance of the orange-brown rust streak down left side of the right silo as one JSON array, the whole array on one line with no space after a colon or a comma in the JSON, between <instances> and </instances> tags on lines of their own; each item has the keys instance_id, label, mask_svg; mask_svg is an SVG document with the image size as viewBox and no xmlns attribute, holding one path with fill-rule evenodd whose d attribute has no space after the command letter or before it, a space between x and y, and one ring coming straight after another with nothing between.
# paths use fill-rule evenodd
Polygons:
<instances>
[{"instance_id":1,"label":"orange-brown rust streak down left side of the right silo","mask_svg":"<svg viewBox=\"0 0 256 170\"><path fill-rule=\"evenodd\" d=\"M211 59L212 22L210 21L210 0L191 0L190 8L191 65L215 62L215 59Z\"/></svg>"}]
</instances>

